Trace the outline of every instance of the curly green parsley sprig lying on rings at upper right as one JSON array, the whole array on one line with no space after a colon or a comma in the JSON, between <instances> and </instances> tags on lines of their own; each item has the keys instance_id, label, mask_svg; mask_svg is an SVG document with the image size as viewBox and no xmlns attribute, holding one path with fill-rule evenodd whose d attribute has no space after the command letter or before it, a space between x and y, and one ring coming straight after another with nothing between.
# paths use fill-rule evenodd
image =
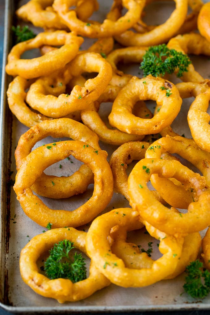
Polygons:
<instances>
[{"instance_id":1,"label":"curly green parsley sprig lying on rings at upper right","mask_svg":"<svg viewBox=\"0 0 210 315\"><path fill-rule=\"evenodd\" d=\"M139 69L143 70L144 76L151 74L153 77L162 77L166 73L172 74L178 68L176 75L181 77L183 72L188 71L190 63L187 55L162 44L149 47Z\"/></svg>"}]
</instances>

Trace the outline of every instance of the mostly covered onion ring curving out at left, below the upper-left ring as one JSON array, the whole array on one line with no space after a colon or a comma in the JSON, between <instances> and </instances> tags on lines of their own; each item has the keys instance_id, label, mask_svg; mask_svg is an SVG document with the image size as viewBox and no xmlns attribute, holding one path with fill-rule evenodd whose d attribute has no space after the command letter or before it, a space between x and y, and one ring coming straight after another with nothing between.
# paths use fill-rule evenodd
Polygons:
<instances>
[{"instance_id":1,"label":"mostly covered onion ring curving out at left, below the upper-left ring","mask_svg":"<svg viewBox=\"0 0 210 315\"><path fill-rule=\"evenodd\" d=\"M54 80L51 80L54 82ZM41 123L43 120L52 120L52 117L44 116L40 113L33 112L25 103L26 92L33 83L34 80L26 80L20 76L14 78L9 84L7 90L8 104L11 112L17 117L17 119L25 126L31 128L37 123ZM57 87L49 87L52 91L57 91ZM60 89L60 87L59 87ZM73 112L66 116L74 120L81 120L80 111Z\"/></svg>"}]
</instances>

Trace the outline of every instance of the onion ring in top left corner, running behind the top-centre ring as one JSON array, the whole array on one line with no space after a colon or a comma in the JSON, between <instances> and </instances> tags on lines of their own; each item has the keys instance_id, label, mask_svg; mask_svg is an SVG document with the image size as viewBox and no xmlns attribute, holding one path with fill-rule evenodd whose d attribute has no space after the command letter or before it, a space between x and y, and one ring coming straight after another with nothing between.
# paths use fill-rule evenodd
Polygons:
<instances>
[{"instance_id":1,"label":"onion ring in top left corner, running behind the top-centre ring","mask_svg":"<svg viewBox=\"0 0 210 315\"><path fill-rule=\"evenodd\" d=\"M66 29L58 14L53 10L54 0L30 0L21 6L17 11L17 16L24 20L30 21L34 26L52 29ZM98 9L96 0L82 0L76 3L75 12L80 20L87 20L94 11Z\"/></svg>"}]
</instances>

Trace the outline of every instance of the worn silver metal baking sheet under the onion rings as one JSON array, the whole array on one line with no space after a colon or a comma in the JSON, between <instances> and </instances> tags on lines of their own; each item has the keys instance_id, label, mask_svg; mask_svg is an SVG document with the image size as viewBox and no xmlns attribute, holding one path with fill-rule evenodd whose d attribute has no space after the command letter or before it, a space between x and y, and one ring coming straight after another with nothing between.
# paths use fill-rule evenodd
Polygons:
<instances>
[{"instance_id":1,"label":"worn silver metal baking sheet under the onion rings","mask_svg":"<svg viewBox=\"0 0 210 315\"><path fill-rule=\"evenodd\" d=\"M20 1L18 5L22 5L25 1ZM111 5L111 1L99 1L101 10L95 14L95 17L102 20L105 13ZM6 64L6 56L11 48L11 25L16 23L14 16L15 7L17 3L14 0L6 0L5 8L5 39L3 52L3 69ZM158 24L161 20L166 20L166 17L173 11L173 3L165 3L161 6L160 3L154 3L147 8L146 22L153 18L153 24ZM159 17L155 20L156 12ZM159 20L160 19L160 20ZM36 30L37 31L37 30ZM40 31L40 30L39 30ZM89 41L90 42L90 41ZM87 46L83 44L83 48ZM201 75L208 77L210 74L210 60L208 57L201 56L191 58L196 70ZM126 65L122 67L126 73L139 75L139 65ZM15 178L15 161L14 150L20 135L28 128L23 126L17 119L11 115L7 99L6 90L11 77L2 73L2 94L1 94L1 123L0 123L0 147L1 151L1 234L0 234L0 306L5 310L15 313L44 313L44 312L119 312L119 311L158 311L158 310L190 310L190 309L210 309L210 297L202 301L196 301L183 293L183 279L184 274L178 276L173 280L162 280L156 284L145 288L121 288L114 284L109 287L96 292L89 298L78 301L59 304L54 299L44 298L32 291L20 277L19 272L19 255L20 250L33 236L42 233L44 228L31 221L23 212L19 202L16 200L16 195L13 191L11 179ZM183 101L181 112L175 119L172 127L180 135L185 134L190 137L190 130L187 126L187 111L193 98ZM152 110L154 103L148 102L148 106ZM103 104L100 108L101 116L107 116L110 111L111 104ZM48 137L39 143L49 143L54 141ZM111 153L116 149L115 146L108 146L100 142L102 149ZM79 163L70 158L74 163L62 161L62 173L58 165L54 164L46 170L47 174L54 175L70 175L77 168ZM71 168L70 168L71 165ZM131 169L129 166L128 170ZM195 168L194 168L195 170ZM13 172L13 174L11 174ZM11 193L10 193L11 191ZM90 197L93 191L93 186L88 187L88 191L81 197L75 196L70 199L50 200L42 198L46 204L54 209L75 209L79 204L83 203ZM113 208L128 207L128 201L119 194L114 194L111 202L105 211ZM89 224L88 224L89 225ZM88 225L82 226L79 229L88 230ZM46 229L45 229L46 230ZM150 241L154 241L150 236L146 236L142 240L142 233L131 232L128 236L129 241L141 242L146 246ZM203 233L202 233L203 234ZM154 241L155 243L155 241ZM158 255L157 249L154 249L154 257Z\"/></svg>"}]
</instances>

